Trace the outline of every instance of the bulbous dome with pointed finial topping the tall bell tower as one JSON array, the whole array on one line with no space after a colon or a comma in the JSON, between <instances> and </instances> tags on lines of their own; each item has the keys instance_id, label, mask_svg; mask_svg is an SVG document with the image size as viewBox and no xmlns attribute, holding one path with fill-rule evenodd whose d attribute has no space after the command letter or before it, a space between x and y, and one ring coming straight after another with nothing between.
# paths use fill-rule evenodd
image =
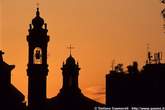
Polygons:
<instances>
[{"instance_id":1,"label":"bulbous dome with pointed finial topping the tall bell tower","mask_svg":"<svg viewBox=\"0 0 165 110\"><path fill-rule=\"evenodd\" d=\"M39 8L37 8L36 17L32 20L32 24L35 27L42 27L44 24L44 19L40 17Z\"/></svg>"}]
</instances>

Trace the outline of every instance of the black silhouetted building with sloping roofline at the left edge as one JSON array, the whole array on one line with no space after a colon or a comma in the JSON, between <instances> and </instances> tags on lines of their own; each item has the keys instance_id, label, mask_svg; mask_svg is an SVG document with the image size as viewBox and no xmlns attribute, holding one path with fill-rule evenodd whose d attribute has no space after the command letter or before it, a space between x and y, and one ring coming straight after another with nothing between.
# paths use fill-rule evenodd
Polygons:
<instances>
[{"instance_id":1,"label":"black silhouetted building with sloping roofline at the left edge","mask_svg":"<svg viewBox=\"0 0 165 110\"><path fill-rule=\"evenodd\" d=\"M0 110L26 110L24 95L11 84L11 70L14 65L3 61L0 51Z\"/></svg>"}]
</instances>

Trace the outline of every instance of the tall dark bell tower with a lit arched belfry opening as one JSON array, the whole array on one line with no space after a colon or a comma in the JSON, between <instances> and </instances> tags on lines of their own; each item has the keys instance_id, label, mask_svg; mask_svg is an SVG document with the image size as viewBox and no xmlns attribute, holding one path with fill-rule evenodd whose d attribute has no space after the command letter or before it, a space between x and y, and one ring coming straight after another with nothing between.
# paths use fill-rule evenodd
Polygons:
<instances>
[{"instance_id":1,"label":"tall dark bell tower with a lit arched belfry opening","mask_svg":"<svg viewBox=\"0 0 165 110\"><path fill-rule=\"evenodd\" d=\"M46 100L46 80L48 75L47 45L47 24L40 17L37 7L36 17L29 25L27 42L29 47L28 55L28 109L42 110Z\"/></svg>"}]
</instances>

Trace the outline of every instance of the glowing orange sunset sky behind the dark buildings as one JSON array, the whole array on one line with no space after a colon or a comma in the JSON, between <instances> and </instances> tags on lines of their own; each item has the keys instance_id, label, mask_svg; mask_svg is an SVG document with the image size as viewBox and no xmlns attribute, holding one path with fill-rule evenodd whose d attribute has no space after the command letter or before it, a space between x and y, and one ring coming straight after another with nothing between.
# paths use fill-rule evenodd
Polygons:
<instances>
[{"instance_id":1,"label":"glowing orange sunset sky behind the dark buildings","mask_svg":"<svg viewBox=\"0 0 165 110\"><path fill-rule=\"evenodd\" d=\"M15 64L12 83L27 96L29 24L36 3L48 24L47 96L62 86L62 62L72 55L79 62L79 83L87 96L105 102L105 75L112 61L124 66L145 63L147 44L165 52L165 35L159 0L0 0L0 49L4 59ZM27 99L26 99L27 100Z\"/></svg>"}]
</instances>

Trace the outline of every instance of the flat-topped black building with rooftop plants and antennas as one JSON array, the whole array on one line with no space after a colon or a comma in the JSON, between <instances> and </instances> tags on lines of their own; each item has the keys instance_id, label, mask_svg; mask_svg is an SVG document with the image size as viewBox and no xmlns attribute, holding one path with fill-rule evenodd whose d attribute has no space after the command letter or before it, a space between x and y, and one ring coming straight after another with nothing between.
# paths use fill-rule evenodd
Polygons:
<instances>
[{"instance_id":1,"label":"flat-topped black building with rooftop plants and antennas","mask_svg":"<svg viewBox=\"0 0 165 110\"><path fill-rule=\"evenodd\" d=\"M147 63L138 70L136 62L124 72L121 65L106 75L106 105L118 107L165 106L165 64L160 54L148 54Z\"/></svg>"}]
</instances>

